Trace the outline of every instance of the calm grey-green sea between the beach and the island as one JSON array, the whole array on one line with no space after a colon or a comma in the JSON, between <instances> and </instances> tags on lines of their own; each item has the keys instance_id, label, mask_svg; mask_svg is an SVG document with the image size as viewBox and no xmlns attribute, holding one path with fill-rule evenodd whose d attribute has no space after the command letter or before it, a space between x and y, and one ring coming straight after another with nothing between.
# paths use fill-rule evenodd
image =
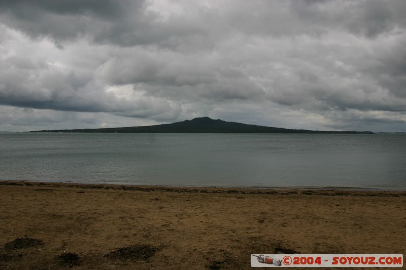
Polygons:
<instances>
[{"instance_id":1,"label":"calm grey-green sea between the beach and the island","mask_svg":"<svg viewBox=\"0 0 406 270\"><path fill-rule=\"evenodd\" d=\"M406 135L0 133L0 179L406 190Z\"/></svg>"}]
</instances>

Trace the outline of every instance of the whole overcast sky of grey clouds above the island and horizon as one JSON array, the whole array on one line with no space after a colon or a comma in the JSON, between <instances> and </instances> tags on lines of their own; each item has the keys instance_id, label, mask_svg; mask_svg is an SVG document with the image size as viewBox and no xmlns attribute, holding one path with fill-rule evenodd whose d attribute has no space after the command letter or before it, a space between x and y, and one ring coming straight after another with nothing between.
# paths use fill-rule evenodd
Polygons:
<instances>
[{"instance_id":1,"label":"whole overcast sky of grey clouds above the island and horizon","mask_svg":"<svg viewBox=\"0 0 406 270\"><path fill-rule=\"evenodd\" d=\"M0 1L0 131L406 132L404 0Z\"/></svg>"}]
</instances>

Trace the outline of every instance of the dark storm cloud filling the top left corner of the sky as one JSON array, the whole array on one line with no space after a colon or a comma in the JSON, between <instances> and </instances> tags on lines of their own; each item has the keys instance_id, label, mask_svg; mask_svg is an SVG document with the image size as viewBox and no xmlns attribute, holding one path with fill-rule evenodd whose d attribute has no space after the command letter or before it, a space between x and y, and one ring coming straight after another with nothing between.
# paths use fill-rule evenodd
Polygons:
<instances>
[{"instance_id":1,"label":"dark storm cloud filling the top left corner of the sky","mask_svg":"<svg viewBox=\"0 0 406 270\"><path fill-rule=\"evenodd\" d=\"M33 38L49 37L58 45L79 37L99 44L120 46L161 44L173 46L176 35L184 37L199 32L196 25L174 18L160 21L147 10L146 1L3 1L2 22Z\"/></svg>"}]
</instances>

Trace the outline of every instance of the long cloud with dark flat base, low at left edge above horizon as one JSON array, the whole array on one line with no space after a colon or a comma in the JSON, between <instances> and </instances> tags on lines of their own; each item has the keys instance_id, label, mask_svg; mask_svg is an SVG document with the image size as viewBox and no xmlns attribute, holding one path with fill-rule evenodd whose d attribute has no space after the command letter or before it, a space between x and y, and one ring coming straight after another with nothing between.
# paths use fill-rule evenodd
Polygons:
<instances>
[{"instance_id":1,"label":"long cloud with dark flat base, low at left edge above horizon","mask_svg":"<svg viewBox=\"0 0 406 270\"><path fill-rule=\"evenodd\" d=\"M111 112L153 117L173 110L167 100L140 97L134 101L104 90L91 73L58 70L27 59L7 58L0 66L0 104L65 111ZM178 106L175 106L179 110ZM125 113L124 113L125 112Z\"/></svg>"}]
</instances>

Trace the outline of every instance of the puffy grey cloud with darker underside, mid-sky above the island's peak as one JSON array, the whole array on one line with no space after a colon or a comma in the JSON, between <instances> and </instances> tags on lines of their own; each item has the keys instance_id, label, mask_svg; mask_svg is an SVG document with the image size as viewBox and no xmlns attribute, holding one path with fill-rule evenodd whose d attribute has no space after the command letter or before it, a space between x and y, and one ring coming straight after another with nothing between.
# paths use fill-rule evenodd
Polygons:
<instances>
[{"instance_id":1,"label":"puffy grey cloud with darker underside, mid-sky above the island's peak","mask_svg":"<svg viewBox=\"0 0 406 270\"><path fill-rule=\"evenodd\" d=\"M113 85L134 84L135 89L171 99L251 99L264 94L241 69L205 56L127 51L101 65L97 75Z\"/></svg>"}]
</instances>

